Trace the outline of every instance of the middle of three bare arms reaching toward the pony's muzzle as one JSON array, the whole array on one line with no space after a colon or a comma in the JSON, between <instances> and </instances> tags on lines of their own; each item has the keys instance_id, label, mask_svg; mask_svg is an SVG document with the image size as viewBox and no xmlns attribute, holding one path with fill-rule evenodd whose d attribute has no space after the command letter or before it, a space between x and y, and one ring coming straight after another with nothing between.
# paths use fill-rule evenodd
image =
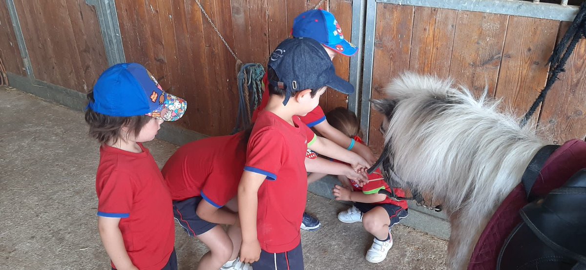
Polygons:
<instances>
[{"instance_id":1,"label":"middle of three bare arms reaching toward the pony's muzzle","mask_svg":"<svg viewBox=\"0 0 586 270\"><path fill-rule=\"evenodd\" d=\"M308 148L330 158L349 163L355 170L366 170L372 165L372 163L366 162L357 153L347 151L342 146L320 136L316 136L315 141Z\"/></svg>"}]
</instances>

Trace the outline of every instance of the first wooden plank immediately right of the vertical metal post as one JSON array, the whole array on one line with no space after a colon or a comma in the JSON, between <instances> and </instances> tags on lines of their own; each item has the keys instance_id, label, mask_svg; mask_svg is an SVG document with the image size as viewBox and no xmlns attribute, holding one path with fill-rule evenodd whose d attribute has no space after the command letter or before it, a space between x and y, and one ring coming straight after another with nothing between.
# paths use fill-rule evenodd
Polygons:
<instances>
[{"instance_id":1,"label":"first wooden plank immediately right of the vertical metal post","mask_svg":"<svg viewBox=\"0 0 586 270\"><path fill-rule=\"evenodd\" d=\"M390 80L409 69L414 29L413 6L377 4L376 13L372 99L385 98L384 88ZM369 146L376 155L380 155L384 148L383 135L379 131L383 119L382 114L370 110Z\"/></svg>"}]
</instances>

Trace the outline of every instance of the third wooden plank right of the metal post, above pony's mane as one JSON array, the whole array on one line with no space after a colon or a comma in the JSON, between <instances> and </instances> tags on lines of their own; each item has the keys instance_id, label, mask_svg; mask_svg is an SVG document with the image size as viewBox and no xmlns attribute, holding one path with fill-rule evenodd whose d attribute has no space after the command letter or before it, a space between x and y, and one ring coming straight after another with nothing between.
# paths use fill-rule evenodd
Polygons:
<instances>
[{"instance_id":1,"label":"third wooden plank right of the metal post, above pony's mane","mask_svg":"<svg viewBox=\"0 0 586 270\"><path fill-rule=\"evenodd\" d=\"M449 76L476 96L494 97L509 16L461 11L456 20Z\"/></svg>"}]
</instances>

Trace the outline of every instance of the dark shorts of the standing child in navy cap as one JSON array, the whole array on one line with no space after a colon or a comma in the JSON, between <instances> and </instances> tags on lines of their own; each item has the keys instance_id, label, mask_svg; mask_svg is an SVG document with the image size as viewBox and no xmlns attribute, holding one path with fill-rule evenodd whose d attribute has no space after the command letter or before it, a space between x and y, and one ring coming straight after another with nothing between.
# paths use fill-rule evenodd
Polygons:
<instances>
[{"instance_id":1,"label":"dark shorts of the standing child in navy cap","mask_svg":"<svg viewBox=\"0 0 586 270\"><path fill-rule=\"evenodd\" d=\"M252 266L254 270L304 270L301 243L293 250L282 253L261 250L260 259Z\"/></svg>"}]
</instances>

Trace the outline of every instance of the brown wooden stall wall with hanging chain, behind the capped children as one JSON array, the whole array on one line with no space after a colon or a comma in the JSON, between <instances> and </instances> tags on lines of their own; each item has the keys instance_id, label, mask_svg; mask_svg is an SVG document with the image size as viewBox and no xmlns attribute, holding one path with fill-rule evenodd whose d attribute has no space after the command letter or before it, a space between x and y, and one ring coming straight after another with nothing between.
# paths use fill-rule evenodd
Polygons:
<instances>
[{"instance_id":1,"label":"brown wooden stall wall with hanging chain, behind the capped children","mask_svg":"<svg viewBox=\"0 0 586 270\"><path fill-rule=\"evenodd\" d=\"M200 1L212 22L243 63L263 63L291 32L295 16L319 0ZM346 38L352 27L352 2L324 1ZM229 134L236 122L236 60L212 25L190 0L117 0L116 9L127 61L144 64L163 88L186 98L182 127L206 135ZM349 77L349 57L336 57L336 69ZM346 95L333 90L322 98L324 110L346 107Z\"/></svg>"}]
</instances>

